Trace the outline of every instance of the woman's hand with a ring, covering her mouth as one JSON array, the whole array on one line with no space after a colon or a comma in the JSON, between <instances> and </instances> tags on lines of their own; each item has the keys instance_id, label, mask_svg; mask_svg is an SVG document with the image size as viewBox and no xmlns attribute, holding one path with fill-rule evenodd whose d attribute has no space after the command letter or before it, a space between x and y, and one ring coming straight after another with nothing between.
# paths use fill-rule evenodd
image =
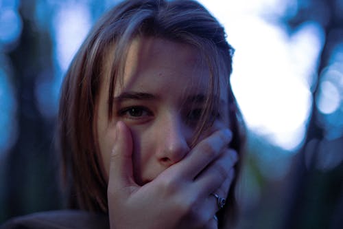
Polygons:
<instances>
[{"instance_id":1,"label":"woman's hand with a ring, covering her mouth","mask_svg":"<svg viewBox=\"0 0 343 229\"><path fill-rule=\"evenodd\" d=\"M110 159L110 228L217 228L217 200L226 197L237 153L227 148L229 131L216 131L152 182L139 186L132 172L132 137L117 122Z\"/></svg>"}]
</instances>

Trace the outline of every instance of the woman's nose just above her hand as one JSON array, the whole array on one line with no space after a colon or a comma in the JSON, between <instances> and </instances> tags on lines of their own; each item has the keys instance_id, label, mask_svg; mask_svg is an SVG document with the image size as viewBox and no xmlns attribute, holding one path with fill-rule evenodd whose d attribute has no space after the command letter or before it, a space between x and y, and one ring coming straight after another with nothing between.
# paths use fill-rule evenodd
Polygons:
<instances>
[{"instance_id":1,"label":"woman's nose just above her hand","mask_svg":"<svg viewBox=\"0 0 343 229\"><path fill-rule=\"evenodd\" d=\"M158 161L163 166L171 166L182 160L190 150L191 130L176 115L161 120L161 135L158 137Z\"/></svg>"}]
</instances>

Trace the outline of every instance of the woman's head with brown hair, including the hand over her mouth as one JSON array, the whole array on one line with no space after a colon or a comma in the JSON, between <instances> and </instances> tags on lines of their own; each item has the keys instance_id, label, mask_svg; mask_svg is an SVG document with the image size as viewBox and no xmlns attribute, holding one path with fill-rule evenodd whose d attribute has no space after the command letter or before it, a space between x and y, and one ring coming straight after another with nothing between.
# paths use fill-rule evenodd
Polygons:
<instances>
[{"instance_id":1,"label":"woman's head with brown hair, including the hand over her mouth","mask_svg":"<svg viewBox=\"0 0 343 229\"><path fill-rule=\"evenodd\" d=\"M62 85L69 207L103 213L110 228L229 228L243 137L232 56L196 1L107 12Z\"/></svg>"}]
</instances>

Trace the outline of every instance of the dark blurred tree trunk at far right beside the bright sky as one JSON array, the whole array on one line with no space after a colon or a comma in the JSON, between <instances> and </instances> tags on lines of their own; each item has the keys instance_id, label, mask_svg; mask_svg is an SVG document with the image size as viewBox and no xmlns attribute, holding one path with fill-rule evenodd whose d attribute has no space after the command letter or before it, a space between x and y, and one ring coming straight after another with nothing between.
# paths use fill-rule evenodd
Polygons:
<instances>
[{"instance_id":1,"label":"dark blurred tree trunk at far right beside the bright sky","mask_svg":"<svg viewBox=\"0 0 343 229\"><path fill-rule=\"evenodd\" d=\"M324 4L325 8L317 8L318 4ZM319 4L319 5L320 5ZM339 19L337 10L338 1L311 1L305 10L300 12L289 21L293 27L307 20L327 15L326 24L321 23L325 33L325 43L320 55L318 66L318 79L316 88L312 93L313 101L318 94L320 73L329 64L333 45L343 42L331 39L330 33L334 30L342 30L343 21ZM318 10L327 10L316 15ZM319 111L314 103L311 110L311 118L307 128L305 144L298 154L295 170L292 173L293 182L289 187L286 215L281 228L342 228L343 226L343 163L331 171L319 171L317 168L320 142L324 139L324 129L318 124ZM340 138L343 145L343 138ZM311 144L311 145L310 145ZM338 149L343 151L343 149ZM306 162L305 162L306 158ZM307 165L307 166L306 166Z\"/></svg>"}]
</instances>

